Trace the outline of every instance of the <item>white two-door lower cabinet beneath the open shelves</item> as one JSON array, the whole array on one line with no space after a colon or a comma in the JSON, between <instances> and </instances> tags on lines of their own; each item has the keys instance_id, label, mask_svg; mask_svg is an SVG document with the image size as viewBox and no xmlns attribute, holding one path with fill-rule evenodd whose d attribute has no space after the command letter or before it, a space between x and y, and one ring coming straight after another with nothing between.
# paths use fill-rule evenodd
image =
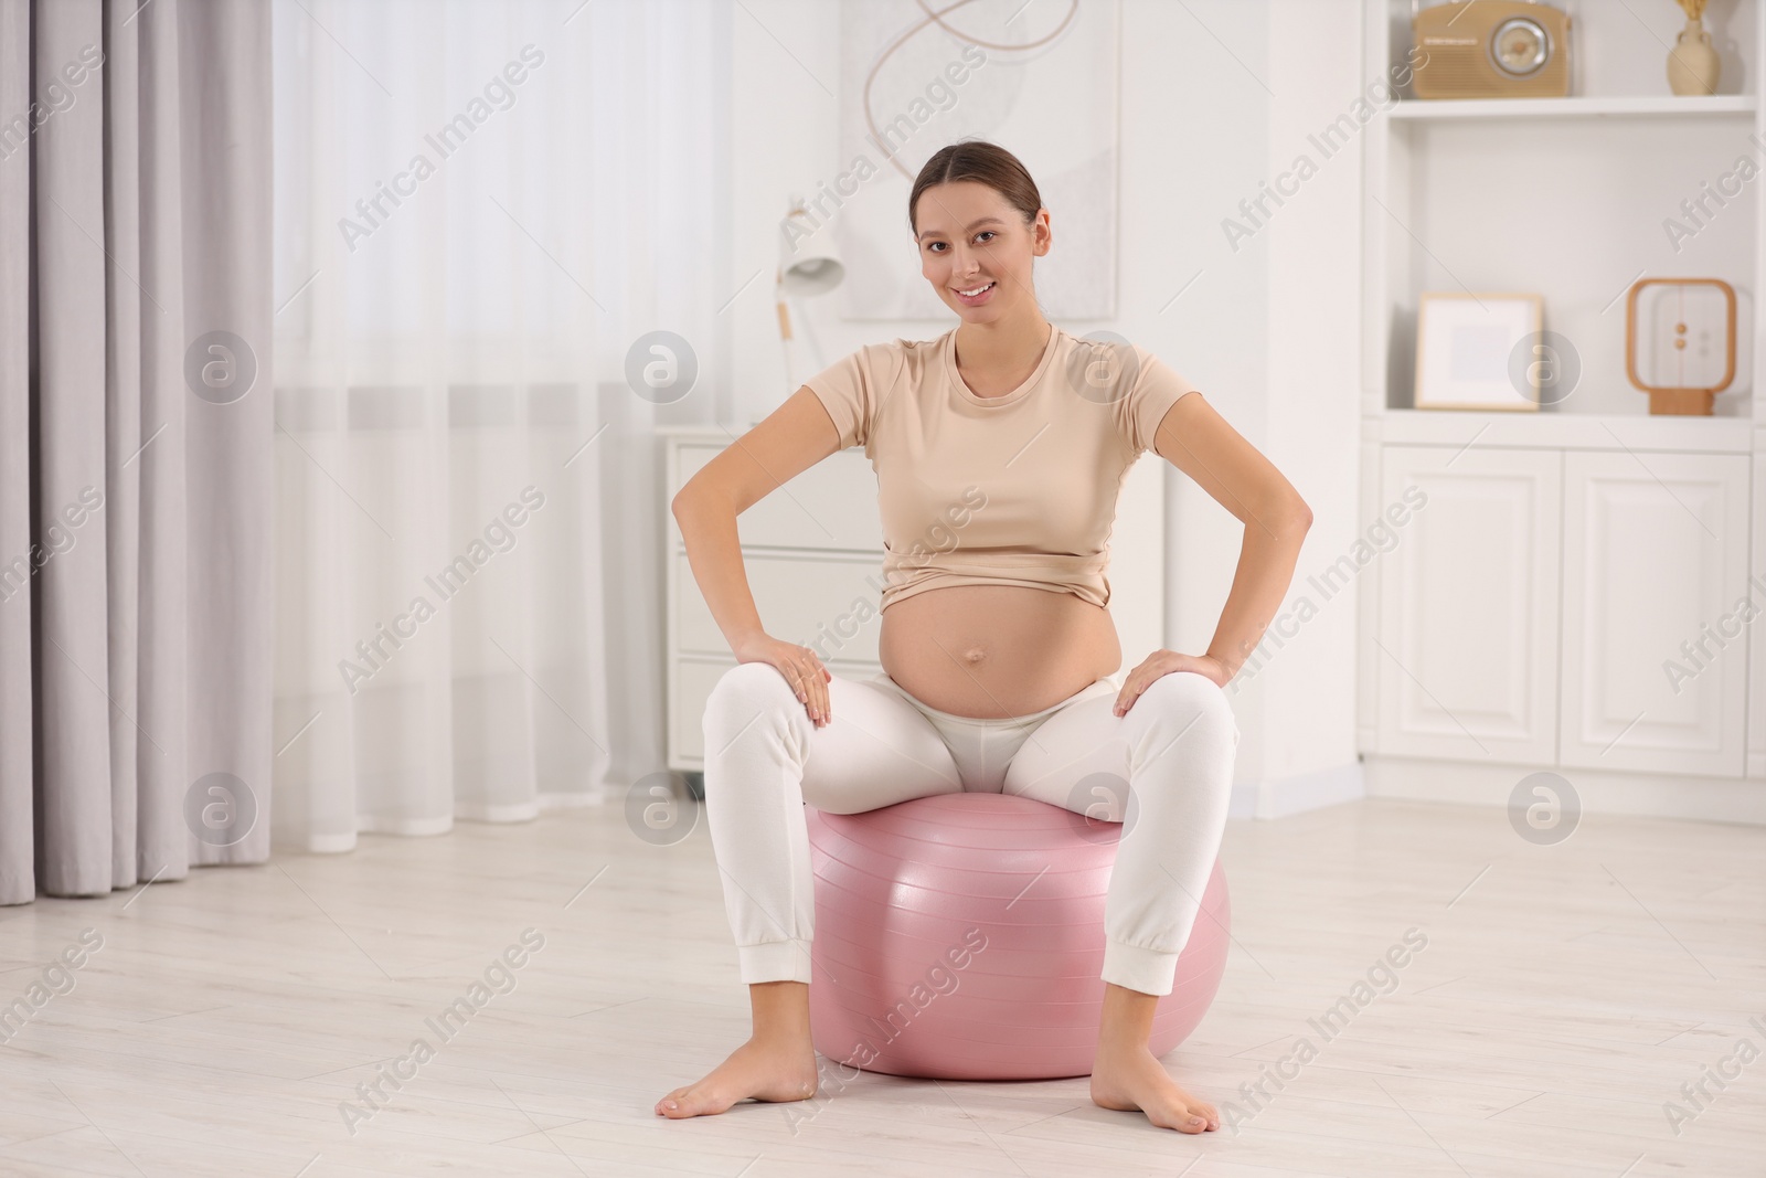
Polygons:
<instances>
[{"instance_id":1,"label":"white two-door lower cabinet beneath the open shelves","mask_svg":"<svg viewBox=\"0 0 1766 1178\"><path fill-rule=\"evenodd\" d=\"M1747 775L1748 454L1376 452L1381 503L1427 502L1381 558L1370 752Z\"/></svg>"}]
</instances>

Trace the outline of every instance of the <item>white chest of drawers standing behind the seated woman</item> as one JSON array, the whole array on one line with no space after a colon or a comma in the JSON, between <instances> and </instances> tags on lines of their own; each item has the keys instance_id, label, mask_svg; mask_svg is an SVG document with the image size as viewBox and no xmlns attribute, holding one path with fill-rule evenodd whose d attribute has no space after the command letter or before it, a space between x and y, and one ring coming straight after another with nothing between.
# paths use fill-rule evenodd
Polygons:
<instances>
[{"instance_id":1,"label":"white chest of drawers standing behind the seated woman","mask_svg":"<svg viewBox=\"0 0 1766 1178\"><path fill-rule=\"evenodd\" d=\"M664 502L740 433L736 427L666 426ZM1143 454L1128 470L1111 533L1111 616L1123 668L1164 646L1166 473ZM722 631L699 595L673 512L668 542L668 766L698 774L705 765L705 699L736 666ZM864 449L830 454L736 519L742 560L766 632L826 652L835 675L869 678L878 662L883 528L878 480ZM864 609L862 604L869 604ZM865 618L858 622L858 618Z\"/></svg>"}]
</instances>

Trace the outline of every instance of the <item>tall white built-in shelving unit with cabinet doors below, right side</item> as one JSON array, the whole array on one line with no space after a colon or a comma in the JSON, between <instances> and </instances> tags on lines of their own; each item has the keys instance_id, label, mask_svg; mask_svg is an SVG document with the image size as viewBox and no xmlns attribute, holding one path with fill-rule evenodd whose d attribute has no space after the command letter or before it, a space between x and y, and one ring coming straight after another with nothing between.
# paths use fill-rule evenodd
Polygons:
<instances>
[{"instance_id":1,"label":"tall white built-in shelving unit with cabinet doors below, right side","mask_svg":"<svg viewBox=\"0 0 1766 1178\"><path fill-rule=\"evenodd\" d=\"M1362 595L1372 795L1506 802L1552 770L1593 809L1766 821L1766 615L1722 622L1750 593L1766 609L1761 4L1708 12L1713 97L1667 88L1678 7L1584 0L1570 97L1406 92L1365 127L1362 519L1429 495ZM1390 79L1411 4L1362 14L1363 76ZM1757 175L1715 201L1741 157ZM1625 293L1646 276L1736 290L1715 417L1651 417L1626 380ZM1538 412L1411 408L1420 295L1462 290L1540 293L1577 389Z\"/></svg>"}]
</instances>

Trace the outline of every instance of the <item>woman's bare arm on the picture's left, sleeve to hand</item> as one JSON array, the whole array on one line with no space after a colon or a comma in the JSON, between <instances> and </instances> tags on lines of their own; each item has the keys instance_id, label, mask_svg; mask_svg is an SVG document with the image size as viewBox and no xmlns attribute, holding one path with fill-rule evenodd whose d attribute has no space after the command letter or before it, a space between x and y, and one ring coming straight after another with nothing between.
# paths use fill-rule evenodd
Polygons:
<instances>
[{"instance_id":1,"label":"woman's bare arm on the picture's left, sleeve to hand","mask_svg":"<svg viewBox=\"0 0 1766 1178\"><path fill-rule=\"evenodd\" d=\"M742 565L736 516L834 454L839 443L834 420L805 385L701 466L669 503L699 595L736 662L775 666L818 724L826 722L830 675L809 646L770 638L761 627Z\"/></svg>"}]
</instances>

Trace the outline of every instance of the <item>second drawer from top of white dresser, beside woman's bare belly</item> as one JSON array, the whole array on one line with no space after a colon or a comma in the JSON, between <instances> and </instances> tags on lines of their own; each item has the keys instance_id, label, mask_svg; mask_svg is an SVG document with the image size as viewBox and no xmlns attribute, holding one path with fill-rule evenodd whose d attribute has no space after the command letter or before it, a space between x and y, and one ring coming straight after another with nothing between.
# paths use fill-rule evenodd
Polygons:
<instances>
[{"instance_id":1,"label":"second drawer from top of white dresser, beside woman's bare belly","mask_svg":"<svg viewBox=\"0 0 1766 1178\"><path fill-rule=\"evenodd\" d=\"M823 662L858 659L876 662L881 618L878 604L883 581L881 558L812 558L743 553L749 590L761 625L774 638L802 643ZM692 579L687 553L675 553L675 636L682 653L728 655L729 643L717 629L710 606Z\"/></svg>"}]
</instances>

